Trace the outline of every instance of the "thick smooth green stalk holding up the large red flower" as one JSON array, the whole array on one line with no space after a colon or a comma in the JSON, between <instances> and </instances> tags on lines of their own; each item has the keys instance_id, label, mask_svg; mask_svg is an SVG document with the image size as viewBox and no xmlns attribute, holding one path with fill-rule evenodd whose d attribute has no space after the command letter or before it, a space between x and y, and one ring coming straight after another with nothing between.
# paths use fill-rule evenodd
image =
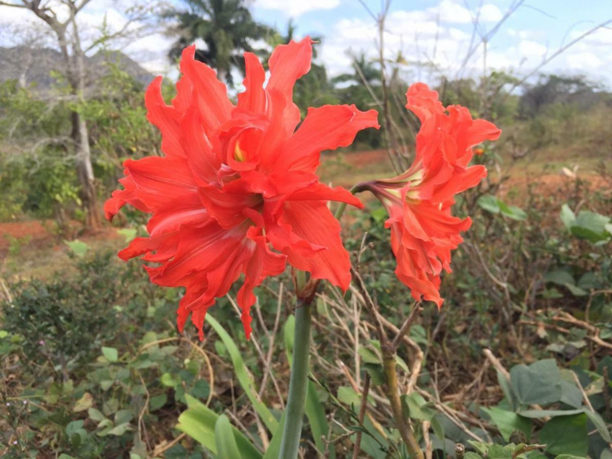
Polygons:
<instances>
[{"instance_id":1,"label":"thick smooth green stalk holding up the large red flower","mask_svg":"<svg viewBox=\"0 0 612 459\"><path fill-rule=\"evenodd\" d=\"M310 302L297 300L296 329L293 340L293 359L291 361L291 379L289 380L289 397L285 408L285 427L280 444L279 459L297 458L297 450L302 438L302 420L304 405L308 392L308 362L310 360Z\"/></svg>"}]
</instances>

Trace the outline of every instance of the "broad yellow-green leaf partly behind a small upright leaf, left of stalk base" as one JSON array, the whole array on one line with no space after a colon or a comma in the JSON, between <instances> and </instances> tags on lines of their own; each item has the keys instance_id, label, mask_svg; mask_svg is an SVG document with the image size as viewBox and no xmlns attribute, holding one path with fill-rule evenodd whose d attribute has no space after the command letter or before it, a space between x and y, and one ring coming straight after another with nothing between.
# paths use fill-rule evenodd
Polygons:
<instances>
[{"instance_id":1,"label":"broad yellow-green leaf partly behind a small upright leaf, left of stalk base","mask_svg":"<svg viewBox=\"0 0 612 459\"><path fill-rule=\"evenodd\" d=\"M185 400L188 409L179 416L179 424L176 425L176 428L216 454L215 424L219 415L189 394L185 394ZM242 459L261 459L261 452L242 435L241 431L235 427L232 427L232 431Z\"/></svg>"}]
</instances>

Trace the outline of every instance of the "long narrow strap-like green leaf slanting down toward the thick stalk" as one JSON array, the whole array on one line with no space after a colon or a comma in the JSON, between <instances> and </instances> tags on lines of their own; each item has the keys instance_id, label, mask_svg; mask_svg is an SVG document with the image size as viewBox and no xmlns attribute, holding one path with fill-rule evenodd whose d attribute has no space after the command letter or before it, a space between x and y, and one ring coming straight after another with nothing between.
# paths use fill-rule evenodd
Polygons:
<instances>
[{"instance_id":1,"label":"long narrow strap-like green leaf slanting down toward the thick stalk","mask_svg":"<svg viewBox=\"0 0 612 459\"><path fill-rule=\"evenodd\" d=\"M258 392L255 389L255 383L253 383L253 376L249 373L247 366L244 364L238 346L236 346L236 343L228 332L226 332L221 324L219 324L210 314L206 315L206 321L215 332L217 332L217 335L219 335L219 338L221 338L223 344L225 344L225 347L228 349L234 371L236 371L236 378L238 378L242 390L247 394L251 405L253 405L253 408L255 408L255 411L259 414L259 417L261 417L261 420L263 420L268 430L271 432L276 431L278 421L272 416L272 412L267 406L259 400L259 396L257 395Z\"/></svg>"}]
</instances>

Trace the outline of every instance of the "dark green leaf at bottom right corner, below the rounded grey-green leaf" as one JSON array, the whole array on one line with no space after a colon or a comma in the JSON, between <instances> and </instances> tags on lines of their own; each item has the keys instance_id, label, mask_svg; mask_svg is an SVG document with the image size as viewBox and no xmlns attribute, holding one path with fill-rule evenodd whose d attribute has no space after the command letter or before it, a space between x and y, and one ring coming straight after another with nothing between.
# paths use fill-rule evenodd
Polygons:
<instances>
[{"instance_id":1,"label":"dark green leaf at bottom right corner, below the rounded grey-green leaf","mask_svg":"<svg viewBox=\"0 0 612 459\"><path fill-rule=\"evenodd\" d=\"M553 417L540 430L540 443L550 454L571 454L586 457L589 449L586 414Z\"/></svg>"}]
</instances>

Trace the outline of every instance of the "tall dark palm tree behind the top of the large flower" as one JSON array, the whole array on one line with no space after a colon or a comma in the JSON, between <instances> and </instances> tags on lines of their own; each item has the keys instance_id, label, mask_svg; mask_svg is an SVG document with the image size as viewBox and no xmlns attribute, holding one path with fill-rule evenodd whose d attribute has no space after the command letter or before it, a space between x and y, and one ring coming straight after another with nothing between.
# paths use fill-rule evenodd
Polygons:
<instances>
[{"instance_id":1,"label":"tall dark palm tree behind the top of the large flower","mask_svg":"<svg viewBox=\"0 0 612 459\"><path fill-rule=\"evenodd\" d=\"M183 48L202 39L206 49L196 50L195 58L217 69L220 80L233 83L231 70L244 73L245 51L253 49L255 40L265 39L271 32L267 26L257 23L245 5L245 0L185 0L183 10L170 10L166 18L174 18L177 25L171 34L179 35L170 50L170 58L176 59Z\"/></svg>"}]
</instances>

